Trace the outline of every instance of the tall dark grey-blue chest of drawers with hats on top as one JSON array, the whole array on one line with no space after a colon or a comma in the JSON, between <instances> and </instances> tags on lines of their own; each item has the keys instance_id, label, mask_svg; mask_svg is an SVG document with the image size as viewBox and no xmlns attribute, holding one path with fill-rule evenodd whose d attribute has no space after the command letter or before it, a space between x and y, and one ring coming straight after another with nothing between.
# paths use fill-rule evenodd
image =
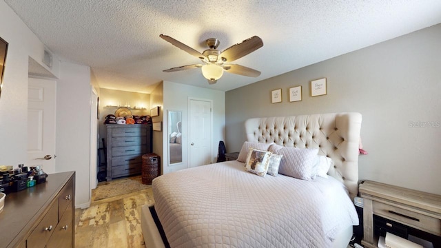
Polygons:
<instances>
[{"instance_id":1,"label":"tall dark grey-blue chest of drawers with hats on top","mask_svg":"<svg viewBox=\"0 0 441 248\"><path fill-rule=\"evenodd\" d=\"M106 180L141 174L143 154L152 152L152 125L107 124Z\"/></svg>"}]
</instances>

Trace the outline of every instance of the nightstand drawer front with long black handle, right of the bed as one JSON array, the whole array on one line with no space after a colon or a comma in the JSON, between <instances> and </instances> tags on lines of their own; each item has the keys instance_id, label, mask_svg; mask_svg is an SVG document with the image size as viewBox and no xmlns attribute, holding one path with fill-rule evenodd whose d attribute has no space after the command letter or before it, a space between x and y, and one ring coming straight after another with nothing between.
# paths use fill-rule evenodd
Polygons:
<instances>
[{"instance_id":1,"label":"nightstand drawer front with long black handle, right of the bed","mask_svg":"<svg viewBox=\"0 0 441 248\"><path fill-rule=\"evenodd\" d=\"M414 211L393 207L384 203L373 201L373 214L377 214L384 218L396 220L404 225L422 229L431 234L441 235L441 220Z\"/></svg>"}]
</instances>

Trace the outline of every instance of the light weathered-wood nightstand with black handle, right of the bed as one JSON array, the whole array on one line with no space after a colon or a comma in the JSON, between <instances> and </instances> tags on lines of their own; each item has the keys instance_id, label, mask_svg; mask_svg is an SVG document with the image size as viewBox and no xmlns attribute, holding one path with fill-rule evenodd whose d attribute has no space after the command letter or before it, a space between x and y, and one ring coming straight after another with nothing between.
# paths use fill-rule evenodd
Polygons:
<instances>
[{"instance_id":1,"label":"light weathered-wood nightstand with black handle, right of the bed","mask_svg":"<svg viewBox=\"0 0 441 248\"><path fill-rule=\"evenodd\" d=\"M437 247L441 240L441 196L370 180L360 184L358 191L363 198L362 245L377 247L378 233L400 229L404 236L420 236Z\"/></svg>"}]
</instances>

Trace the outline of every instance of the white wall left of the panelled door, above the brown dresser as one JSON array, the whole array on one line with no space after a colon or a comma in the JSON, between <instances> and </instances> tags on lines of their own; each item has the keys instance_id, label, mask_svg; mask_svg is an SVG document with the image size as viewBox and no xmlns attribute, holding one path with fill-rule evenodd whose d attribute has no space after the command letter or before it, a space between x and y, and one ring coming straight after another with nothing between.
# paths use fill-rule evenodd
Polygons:
<instances>
[{"instance_id":1,"label":"white wall left of the panelled door, above the brown dresser","mask_svg":"<svg viewBox=\"0 0 441 248\"><path fill-rule=\"evenodd\" d=\"M43 43L4 1L0 1L0 37L9 43L0 96L0 164L17 167L27 158L28 59L56 76L58 61L54 70L41 63Z\"/></svg>"}]
</instances>

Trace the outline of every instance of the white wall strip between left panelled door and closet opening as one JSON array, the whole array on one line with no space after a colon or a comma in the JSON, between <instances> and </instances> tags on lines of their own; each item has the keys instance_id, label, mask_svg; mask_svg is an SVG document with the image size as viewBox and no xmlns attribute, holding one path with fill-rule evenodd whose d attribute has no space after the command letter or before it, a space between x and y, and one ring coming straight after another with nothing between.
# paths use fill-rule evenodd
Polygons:
<instances>
[{"instance_id":1,"label":"white wall strip between left panelled door and closet opening","mask_svg":"<svg viewBox=\"0 0 441 248\"><path fill-rule=\"evenodd\" d=\"M88 207L90 204L90 68L88 66L61 62L60 79L57 84L56 167L57 172L76 172L75 205Z\"/></svg>"}]
</instances>

